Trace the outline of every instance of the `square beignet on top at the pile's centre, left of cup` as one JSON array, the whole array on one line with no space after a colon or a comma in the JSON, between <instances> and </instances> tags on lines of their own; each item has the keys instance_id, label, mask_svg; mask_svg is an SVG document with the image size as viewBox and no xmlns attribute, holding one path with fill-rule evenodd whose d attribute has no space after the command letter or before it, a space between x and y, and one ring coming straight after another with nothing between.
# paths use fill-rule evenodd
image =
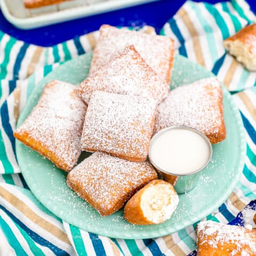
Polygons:
<instances>
[{"instance_id":1,"label":"square beignet on top at the pile's centre, left of cup","mask_svg":"<svg viewBox=\"0 0 256 256\"><path fill-rule=\"evenodd\" d=\"M95 91L85 115L82 150L145 161L157 102L151 98Z\"/></svg>"}]
</instances>

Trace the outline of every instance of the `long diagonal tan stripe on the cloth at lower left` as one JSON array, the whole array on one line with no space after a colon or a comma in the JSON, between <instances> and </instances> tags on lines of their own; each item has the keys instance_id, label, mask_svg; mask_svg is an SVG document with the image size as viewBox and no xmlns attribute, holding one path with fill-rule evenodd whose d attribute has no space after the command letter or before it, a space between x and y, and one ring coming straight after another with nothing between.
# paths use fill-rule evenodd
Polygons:
<instances>
[{"instance_id":1,"label":"long diagonal tan stripe on the cloth at lower left","mask_svg":"<svg viewBox=\"0 0 256 256\"><path fill-rule=\"evenodd\" d=\"M20 212L22 212L28 219L35 222L38 226L48 231L52 235L59 238L61 241L70 244L67 235L58 227L54 226L52 223L44 220L35 212L33 212L24 202L22 202L18 197L11 194L8 190L0 186L0 196L6 201L12 204Z\"/></svg>"}]
</instances>

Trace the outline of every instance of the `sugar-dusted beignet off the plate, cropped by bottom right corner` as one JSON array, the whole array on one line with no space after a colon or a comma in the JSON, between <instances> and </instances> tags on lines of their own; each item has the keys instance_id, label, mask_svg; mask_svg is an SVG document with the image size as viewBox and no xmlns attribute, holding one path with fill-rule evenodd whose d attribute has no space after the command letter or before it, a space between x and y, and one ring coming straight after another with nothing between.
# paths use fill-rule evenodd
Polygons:
<instances>
[{"instance_id":1,"label":"sugar-dusted beignet off the plate, cropped by bottom right corner","mask_svg":"<svg viewBox=\"0 0 256 256\"><path fill-rule=\"evenodd\" d=\"M198 256L256 255L256 229L202 221L196 235Z\"/></svg>"}]
</instances>

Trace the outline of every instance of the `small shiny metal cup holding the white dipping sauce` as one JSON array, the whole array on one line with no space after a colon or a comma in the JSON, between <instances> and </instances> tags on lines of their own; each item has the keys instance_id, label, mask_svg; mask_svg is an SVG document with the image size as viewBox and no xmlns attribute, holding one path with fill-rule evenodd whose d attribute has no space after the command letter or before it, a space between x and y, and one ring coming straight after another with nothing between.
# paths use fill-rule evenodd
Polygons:
<instances>
[{"instance_id":1,"label":"small shiny metal cup holding the white dipping sauce","mask_svg":"<svg viewBox=\"0 0 256 256\"><path fill-rule=\"evenodd\" d=\"M208 147L209 147L209 159L206 161L206 163L204 164L204 166L202 166L200 169L195 170L194 172L190 172L190 173L184 173L184 174L177 174L175 173L175 171L173 172L168 172L166 170L163 170L161 167L157 166L153 161L152 161L152 157L151 157L151 148L152 145L154 143L154 141L164 132L172 130L172 129L185 129L185 130L189 130L189 131L193 131L196 132L197 134L199 134L207 143ZM199 179L199 175L200 172L207 166L207 164L209 164L211 158L212 158L212 144L210 142L210 140L204 135L204 133L190 128L190 127L186 127L186 126L176 126L176 127L168 127L165 128L159 132L157 132L150 141L150 145L149 145L149 153L148 153L148 157L149 157L149 161L151 162L151 164L153 164L153 166L156 168L157 171L159 172L163 172L169 175L175 175L178 176L178 180L176 181L174 188L177 191L178 194L183 194L186 193L190 190L192 190L193 188L195 188L196 183Z\"/></svg>"}]
</instances>

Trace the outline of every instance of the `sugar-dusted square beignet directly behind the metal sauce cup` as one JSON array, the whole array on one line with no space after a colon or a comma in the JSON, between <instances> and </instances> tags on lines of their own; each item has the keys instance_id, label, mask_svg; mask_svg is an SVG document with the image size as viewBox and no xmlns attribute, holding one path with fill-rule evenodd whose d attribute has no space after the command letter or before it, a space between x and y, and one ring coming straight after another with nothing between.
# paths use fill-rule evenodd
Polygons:
<instances>
[{"instance_id":1,"label":"sugar-dusted square beignet directly behind the metal sauce cup","mask_svg":"<svg viewBox=\"0 0 256 256\"><path fill-rule=\"evenodd\" d=\"M169 92L156 111L154 134L166 127L188 126L212 144L226 138L221 84L215 77L182 85Z\"/></svg>"}]
</instances>

